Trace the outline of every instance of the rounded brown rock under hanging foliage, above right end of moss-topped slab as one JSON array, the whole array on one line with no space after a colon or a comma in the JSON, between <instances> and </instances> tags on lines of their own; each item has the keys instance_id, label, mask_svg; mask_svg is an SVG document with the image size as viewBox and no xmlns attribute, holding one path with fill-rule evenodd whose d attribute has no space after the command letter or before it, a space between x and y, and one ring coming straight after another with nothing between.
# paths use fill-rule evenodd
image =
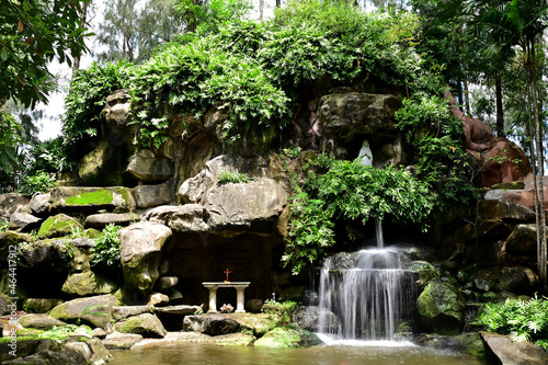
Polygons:
<instances>
[{"instance_id":1,"label":"rounded brown rock under hanging foliage, above right end of moss-topped slab","mask_svg":"<svg viewBox=\"0 0 548 365\"><path fill-rule=\"evenodd\" d=\"M161 183L173 175L174 169L169 159L142 149L132 159L127 171L144 183Z\"/></svg>"}]
</instances>

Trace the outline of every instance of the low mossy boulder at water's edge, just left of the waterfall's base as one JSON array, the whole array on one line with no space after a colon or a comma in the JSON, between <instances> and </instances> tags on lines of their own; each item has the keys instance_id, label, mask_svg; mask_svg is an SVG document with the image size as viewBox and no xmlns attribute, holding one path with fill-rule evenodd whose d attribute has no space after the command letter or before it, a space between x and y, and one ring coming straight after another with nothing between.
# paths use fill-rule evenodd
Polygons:
<instances>
[{"instance_id":1,"label":"low mossy boulder at water's edge, just left of the waterfall's base","mask_svg":"<svg viewBox=\"0 0 548 365\"><path fill-rule=\"evenodd\" d=\"M254 346L288 349L309 347L321 343L321 340L312 332L290 327L276 327L261 339L256 340Z\"/></svg>"}]
</instances>

